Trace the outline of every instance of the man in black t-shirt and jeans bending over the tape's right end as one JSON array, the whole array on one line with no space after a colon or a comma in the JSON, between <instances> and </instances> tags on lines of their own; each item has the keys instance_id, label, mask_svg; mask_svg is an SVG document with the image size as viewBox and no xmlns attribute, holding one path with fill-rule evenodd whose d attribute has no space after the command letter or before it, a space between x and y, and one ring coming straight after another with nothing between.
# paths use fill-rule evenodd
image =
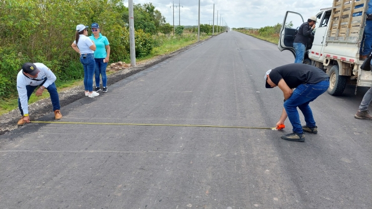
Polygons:
<instances>
[{"instance_id":1,"label":"man in black t-shirt and jeans bending over the tape's right end","mask_svg":"<svg viewBox=\"0 0 372 209\"><path fill-rule=\"evenodd\" d=\"M276 128L289 118L293 133L280 138L288 141L304 142L305 133L316 134L317 127L309 103L327 91L329 77L321 69L302 63L292 63L268 70L265 74L266 88L278 86L284 94L284 108ZM295 90L293 90L296 88ZM301 126L297 107L305 117L306 125Z\"/></svg>"}]
</instances>

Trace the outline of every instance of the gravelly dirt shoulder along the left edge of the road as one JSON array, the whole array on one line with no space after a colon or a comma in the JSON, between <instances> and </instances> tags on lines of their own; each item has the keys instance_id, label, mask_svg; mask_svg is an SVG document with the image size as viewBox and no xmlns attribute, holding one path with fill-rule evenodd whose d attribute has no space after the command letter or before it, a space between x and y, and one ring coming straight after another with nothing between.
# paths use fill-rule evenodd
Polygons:
<instances>
[{"instance_id":1,"label":"gravelly dirt shoulder along the left edge of the road","mask_svg":"<svg viewBox=\"0 0 372 209\"><path fill-rule=\"evenodd\" d=\"M157 57L154 57L152 59L149 59L149 60L145 60L145 61L141 61L141 62L138 62L136 66L134 67L128 67L128 68L125 68L123 70L120 70L118 72L115 72L111 75L109 75L107 77L107 85L110 86L118 81L121 81L123 80L124 78L126 77L129 77L139 71L142 71L144 69L147 69L157 63L160 63L172 56L175 56L181 52L184 52L196 45L199 45L200 43L202 42L205 42L207 40L209 40L210 38L212 37L209 37L205 40L202 40L200 42L197 42L195 44L192 44L192 45L189 45L187 47L184 47L176 52L172 52L170 54L165 54L165 55L161 55L161 56L157 56ZM58 78L57 78L58 79ZM76 100L79 100L83 97L85 97L85 95L82 93L84 91L84 86L81 85L81 86L76 86L76 87L73 87L73 88L70 88L68 90L65 90L63 92L60 92L59 93L59 96L60 96L60 105L61 105L61 112L63 114L63 106L67 105L67 104L71 104L73 102L75 102ZM36 120L37 118L45 115L45 114L49 114L50 112L52 112L52 103L51 103L51 100L50 98L46 98L46 99L43 99L43 100L40 100L36 103L33 103L33 104L29 104L28 105L28 108L29 108L29 112L30 112L30 120ZM8 113L5 113L5 114L2 114L0 115L0 135L10 131L10 130L13 130L13 129L16 129L18 128L17 126L17 122L18 120L21 118L21 115L19 113L19 109L13 109L12 111L8 112Z\"/></svg>"}]
</instances>

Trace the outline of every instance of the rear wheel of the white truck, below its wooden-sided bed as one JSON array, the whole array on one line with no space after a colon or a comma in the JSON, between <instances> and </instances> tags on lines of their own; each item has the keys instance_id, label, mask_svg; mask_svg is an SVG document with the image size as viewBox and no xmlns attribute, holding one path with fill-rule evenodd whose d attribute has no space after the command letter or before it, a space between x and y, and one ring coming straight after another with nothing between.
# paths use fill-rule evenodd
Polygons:
<instances>
[{"instance_id":1,"label":"rear wheel of the white truck, below its wooden-sided bed","mask_svg":"<svg viewBox=\"0 0 372 209\"><path fill-rule=\"evenodd\" d=\"M328 94L339 96L344 92L346 86L346 76L339 75L338 65L333 65L329 70Z\"/></svg>"}]
</instances>

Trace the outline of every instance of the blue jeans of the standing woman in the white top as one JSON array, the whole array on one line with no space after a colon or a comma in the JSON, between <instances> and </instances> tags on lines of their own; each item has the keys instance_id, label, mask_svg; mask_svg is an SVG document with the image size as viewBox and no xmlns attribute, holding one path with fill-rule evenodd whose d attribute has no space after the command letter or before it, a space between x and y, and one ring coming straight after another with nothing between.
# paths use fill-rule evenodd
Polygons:
<instances>
[{"instance_id":1,"label":"blue jeans of the standing woman in the white top","mask_svg":"<svg viewBox=\"0 0 372 209\"><path fill-rule=\"evenodd\" d=\"M85 57L85 58L84 58ZM80 62L83 64L84 68L84 88L85 91L93 91L93 74L96 67L96 62L94 61L94 55L88 53L86 55L80 56Z\"/></svg>"}]
</instances>

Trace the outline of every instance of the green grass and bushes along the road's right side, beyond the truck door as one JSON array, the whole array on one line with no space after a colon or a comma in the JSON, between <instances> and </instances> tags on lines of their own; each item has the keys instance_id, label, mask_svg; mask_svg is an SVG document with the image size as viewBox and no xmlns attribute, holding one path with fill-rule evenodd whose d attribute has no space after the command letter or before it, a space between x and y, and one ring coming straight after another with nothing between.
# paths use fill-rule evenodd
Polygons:
<instances>
[{"instance_id":1,"label":"green grass and bushes along the road's right side, beyond the truck door","mask_svg":"<svg viewBox=\"0 0 372 209\"><path fill-rule=\"evenodd\" d=\"M277 23L274 26L265 26L260 29L254 29L254 28L249 28L249 29L233 28L233 29L241 33L247 34L249 36L253 36L257 39L261 39L261 40L264 40L264 41L267 41L273 44L278 44L281 27L282 27L282 24ZM292 21L287 23L285 27L292 28L293 27Z\"/></svg>"}]
</instances>

